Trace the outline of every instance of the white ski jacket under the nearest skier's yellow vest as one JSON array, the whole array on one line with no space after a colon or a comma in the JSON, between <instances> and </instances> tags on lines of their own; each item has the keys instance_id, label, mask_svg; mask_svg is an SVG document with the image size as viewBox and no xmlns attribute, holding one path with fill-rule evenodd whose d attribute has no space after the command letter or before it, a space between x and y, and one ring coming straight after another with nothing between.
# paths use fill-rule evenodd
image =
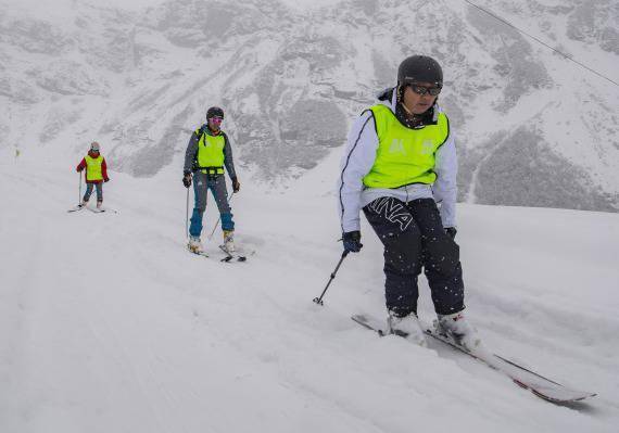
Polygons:
<instances>
[{"instance_id":1,"label":"white ski jacket under the nearest skier's yellow vest","mask_svg":"<svg viewBox=\"0 0 619 433\"><path fill-rule=\"evenodd\" d=\"M391 101L381 101L395 113L396 92ZM435 105L438 112L441 109ZM363 178L370 171L376 160L378 136L371 111L364 112L353 124L338 179L338 208L342 232L359 230L359 212L367 204L382 196L393 196L404 203L417 199L434 199L439 204L443 227L456 226L456 196L458 162L454 133L450 129L447 140L435 154L437 181L430 184L413 183L397 189L367 188Z\"/></svg>"}]
</instances>

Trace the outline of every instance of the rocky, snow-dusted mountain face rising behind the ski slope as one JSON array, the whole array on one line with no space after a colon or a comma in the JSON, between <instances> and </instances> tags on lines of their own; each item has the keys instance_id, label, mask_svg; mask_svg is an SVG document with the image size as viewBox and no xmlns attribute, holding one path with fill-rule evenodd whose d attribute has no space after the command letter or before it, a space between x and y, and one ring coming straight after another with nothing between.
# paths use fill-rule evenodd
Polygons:
<instances>
[{"instance_id":1,"label":"rocky, snow-dusted mountain face rising behind the ski slope","mask_svg":"<svg viewBox=\"0 0 619 433\"><path fill-rule=\"evenodd\" d=\"M619 209L619 87L584 67L619 81L616 1L475 2L584 66L467 1L230 3L46 14L3 0L0 147L97 139L114 169L154 176L219 105L239 164L281 182L339 152L400 61L424 53L443 65L460 200Z\"/></svg>"}]
</instances>

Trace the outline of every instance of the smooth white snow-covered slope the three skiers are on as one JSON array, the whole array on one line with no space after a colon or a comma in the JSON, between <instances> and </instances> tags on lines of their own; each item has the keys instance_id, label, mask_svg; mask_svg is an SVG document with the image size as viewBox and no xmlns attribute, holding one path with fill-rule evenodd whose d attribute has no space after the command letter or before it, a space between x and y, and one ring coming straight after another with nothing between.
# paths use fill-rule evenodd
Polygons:
<instances>
[{"instance_id":1,"label":"smooth white snow-covered slope the three skiers are on","mask_svg":"<svg viewBox=\"0 0 619 433\"><path fill-rule=\"evenodd\" d=\"M3 433L616 431L617 214L459 206L469 316L487 344L599 394L560 407L353 323L383 315L366 226L325 306L312 302L341 253L336 155L287 192L243 184L238 240L256 254L233 265L184 250L178 160L148 179L111 173L118 213L97 215L66 213L77 161L0 156ZM432 319L426 286L420 315Z\"/></svg>"}]
</instances>

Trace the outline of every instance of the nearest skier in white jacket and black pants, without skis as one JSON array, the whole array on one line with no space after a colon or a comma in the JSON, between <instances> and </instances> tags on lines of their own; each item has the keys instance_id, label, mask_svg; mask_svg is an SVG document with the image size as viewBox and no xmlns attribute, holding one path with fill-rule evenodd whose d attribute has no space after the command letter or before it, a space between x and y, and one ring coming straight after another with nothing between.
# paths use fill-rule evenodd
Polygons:
<instances>
[{"instance_id":1,"label":"nearest skier in white jacket and black pants, without skis","mask_svg":"<svg viewBox=\"0 0 619 433\"><path fill-rule=\"evenodd\" d=\"M413 55L401 63L397 86L384 90L352 126L338 200L344 250L357 253L363 246L362 208L384 246L389 330L426 345L417 318L424 268L439 330L470 351L480 339L464 314L454 241L457 157L447 116L437 104L442 87L435 60Z\"/></svg>"}]
</instances>

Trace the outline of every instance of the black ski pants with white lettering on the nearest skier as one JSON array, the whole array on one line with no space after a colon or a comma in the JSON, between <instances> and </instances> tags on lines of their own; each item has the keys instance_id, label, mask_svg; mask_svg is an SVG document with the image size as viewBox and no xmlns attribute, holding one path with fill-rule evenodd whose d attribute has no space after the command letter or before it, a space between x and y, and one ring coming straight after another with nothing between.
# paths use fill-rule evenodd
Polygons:
<instances>
[{"instance_id":1,"label":"black ski pants with white lettering on the nearest skier","mask_svg":"<svg viewBox=\"0 0 619 433\"><path fill-rule=\"evenodd\" d=\"M397 316L417 314L417 279L424 269L434 310L449 315L464 309L459 246L445 233L432 199L408 203L380 198L364 207L367 220L384 245L387 308Z\"/></svg>"}]
</instances>

